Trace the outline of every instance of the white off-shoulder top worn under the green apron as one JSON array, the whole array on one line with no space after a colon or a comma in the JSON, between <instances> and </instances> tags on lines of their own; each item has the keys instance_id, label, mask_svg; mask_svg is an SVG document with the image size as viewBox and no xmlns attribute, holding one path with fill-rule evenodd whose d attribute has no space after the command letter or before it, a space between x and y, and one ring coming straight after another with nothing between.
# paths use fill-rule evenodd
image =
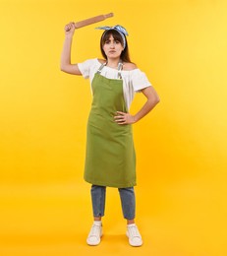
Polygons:
<instances>
[{"instance_id":1,"label":"white off-shoulder top worn under the green apron","mask_svg":"<svg viewBox=\"0 0 227 256\"><path fill-rule=\"evenodd\" d=\"M83 77L85 79L89 79L90 85L94 74L97 72L100 66L101 63L97 58L88 59L83 63L78 63L78 67ZM109 79L118 79L118 70L104 66L100 75ZM138 68L134 70L122 70L121 75L123 80L123 93L125 102L128 109L130 109L130 105L134 99L135 92L140 92L142 89L150 87L151 84L145 74Z\"/></svg>"}]
</instances>

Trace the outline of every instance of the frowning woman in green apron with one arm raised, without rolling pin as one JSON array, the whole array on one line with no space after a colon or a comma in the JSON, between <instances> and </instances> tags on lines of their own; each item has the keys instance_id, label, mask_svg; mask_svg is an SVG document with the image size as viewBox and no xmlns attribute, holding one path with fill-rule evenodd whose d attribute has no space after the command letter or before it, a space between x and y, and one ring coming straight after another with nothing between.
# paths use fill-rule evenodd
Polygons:
<instances>
[{"instance_id":1,"label":"frowning woman in green apron with one arm raised, without rolling pin","mask_svg":"<svg viewBox=\"0 0 227 256\"><path fill-rule=\"evenodd\" d=\"M91 185L94 222L87 236L88 245L97 245L102 236L106 187L117 187L121 197L127 236L132 246L142 245L142 236L135 224L136 156L132 124L138 122L159 101L155 90L142 71L130 60L126 30L99 27L104 30L100 49L104 59L71 63L71 45L75 24L65 27L61 70L89 78L92 105L87 121L85 181ZM135 92L146 97L140 111L129 113Z\"/></svg>"}]
</instances>

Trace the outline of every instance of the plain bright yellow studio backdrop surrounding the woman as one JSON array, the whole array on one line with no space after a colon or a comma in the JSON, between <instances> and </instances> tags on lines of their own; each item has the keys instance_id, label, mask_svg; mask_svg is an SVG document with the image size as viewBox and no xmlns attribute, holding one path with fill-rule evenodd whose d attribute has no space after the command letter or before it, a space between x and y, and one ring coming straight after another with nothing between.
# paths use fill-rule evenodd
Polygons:
<instances>
[{"instance_id":1,"label":"plain bright yellow studio backdrop surrounding the woman","mask_svg":"<svg viewBox=\"0 0 227 256\"><path fill-rule=\"evenodd\" d=\"M65 24L109 12L76 32L72 60L100 57L94 28L121 24L161 98L134 126L141 248L128 245L112 188L102 243L85 244L91 96L88 81L59 69ZM2 256L227 255L226 25L224 0L0 0Z\"/></svg>"}]
</instances>

